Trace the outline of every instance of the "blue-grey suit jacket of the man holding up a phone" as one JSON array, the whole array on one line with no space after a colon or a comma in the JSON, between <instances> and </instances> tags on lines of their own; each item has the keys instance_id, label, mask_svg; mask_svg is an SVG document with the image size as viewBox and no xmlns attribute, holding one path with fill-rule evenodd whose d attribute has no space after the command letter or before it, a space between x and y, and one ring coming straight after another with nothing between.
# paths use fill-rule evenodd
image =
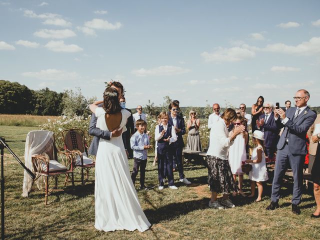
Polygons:
<instances>
[{"instance_id":1,"label":"blue-grey suit jacket of the man holding up a phone","mask_svg":"<svg viewBox=\"0 0 320 240\"><path fill-rule=\"evenodd\" d=\"M277 148L278 150L283 149L285 140L288 139L289 151L292 154L305 155L307 153L305 135L309 127L313 124L316 114L307 106L303 112L292 120L295 111L296 107L286 109L285 116L289 118L289 120L285 124L277 121L279 128L284 127Z\"/></svg>"}]
</instances>

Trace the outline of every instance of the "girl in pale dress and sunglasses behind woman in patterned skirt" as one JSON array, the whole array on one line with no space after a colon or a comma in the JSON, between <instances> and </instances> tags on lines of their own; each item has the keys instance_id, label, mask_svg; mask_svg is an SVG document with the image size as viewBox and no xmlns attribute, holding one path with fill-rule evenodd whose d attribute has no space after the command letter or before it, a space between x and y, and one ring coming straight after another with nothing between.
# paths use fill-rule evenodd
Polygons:
<instances>
[{"instance_id":1,"label":"girl in pale dress and sunglasses behind woman in patterned skirt","mask_svg":"<svg viewBox=\"0 0 320 240\"><path fill-rule=\"evenodd\" d=\"M238 125L246 126L245 120L243 116L237 116L235 122L233 122L234 127ZM233 128L234 128L233 127ZM233 133L233 129L229 132L229 136ZM242 182L243 182L243 172L241 170L242 161L246 160L246 152L245 152L245 145L248 140L248 132L243 131L242 134L239 134L235 137L233 144L230 146L229 149L229 164L231 167L231 172L233 175L233 179L236 182L236 175L239 177L238 182L238 194L245 196L242 191ZM233 192L235 195L236 192Z\"/></svg>"}]
</instances>

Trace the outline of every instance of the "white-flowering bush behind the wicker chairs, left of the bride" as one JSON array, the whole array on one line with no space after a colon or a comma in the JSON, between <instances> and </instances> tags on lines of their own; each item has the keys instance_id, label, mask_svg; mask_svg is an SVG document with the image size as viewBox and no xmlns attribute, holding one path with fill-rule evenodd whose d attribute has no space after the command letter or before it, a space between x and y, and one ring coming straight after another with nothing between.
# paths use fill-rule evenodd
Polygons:
<instances>
[{"instance_id":1,"label":"white-flowering bush behind the wicker chairs, left of the bride","mask_svg":"<svg viewBox=\"0 0 320 240\"><path fill-rule=\"evenodd\" d=\"M49 130L54 132L55 143L59 149L63 148L63 140L62 140L62 131L70 128L78 128L83 130L85 135L85 141L89 146L91 143L92 136L89 135L89 123L90 123L91 115L85 116L59 116L55 120L48 119L47 123L40 125L41 130Z\"/></svg>"}]
</instances>

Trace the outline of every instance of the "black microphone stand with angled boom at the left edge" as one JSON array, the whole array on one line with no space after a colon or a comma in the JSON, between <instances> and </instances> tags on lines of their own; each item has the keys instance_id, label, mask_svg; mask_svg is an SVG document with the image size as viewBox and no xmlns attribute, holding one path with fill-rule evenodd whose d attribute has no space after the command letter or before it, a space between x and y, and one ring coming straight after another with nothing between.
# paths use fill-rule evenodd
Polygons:
<instances>
[{"instance_id":1,"label":"black microphone stand with angled boom at the left edge","mask_svg":"<svg viewBox=\"0 0 320 240\"><path fill-rule=\"evenodd\" d=\"M30 177L34 180L35 175L33 172L27 168L23 162L18 158L17 155L10 149L8 144L6 144L5 139L0 137L0 152L1 152L1 239L4 240L4 175L3 175L3 156L4 147L14 156L14 158L20 163L20 165L26 170Z\"/></svg>"}]
</instances>

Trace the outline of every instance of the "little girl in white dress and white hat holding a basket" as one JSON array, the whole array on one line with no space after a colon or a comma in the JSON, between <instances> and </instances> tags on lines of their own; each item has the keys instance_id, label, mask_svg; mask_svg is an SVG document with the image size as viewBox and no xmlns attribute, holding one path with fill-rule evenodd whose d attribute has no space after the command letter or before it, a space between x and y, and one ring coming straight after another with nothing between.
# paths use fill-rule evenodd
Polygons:
<instances>
[{"instance_id":1,"label":"little girl in white dress and white hat holding a basket","mask_svg":"<svg viewBox=\"0 0 320 240\"><path fill-rule=\"evenodd\" d=\"M246 160L247 163L252 165L252 170L249 172L249 179L251 180L251 194L248 196L253 197L255 192L255 184L258 187L258 197L255 201L260 201L262 197L263 185L261 181L268 179L268 173L265 166L265 155L263 151L263 132L255 130L252 134L252 142L256 147L252 151L251 160Z\"/></svg>"}]
</instances>

